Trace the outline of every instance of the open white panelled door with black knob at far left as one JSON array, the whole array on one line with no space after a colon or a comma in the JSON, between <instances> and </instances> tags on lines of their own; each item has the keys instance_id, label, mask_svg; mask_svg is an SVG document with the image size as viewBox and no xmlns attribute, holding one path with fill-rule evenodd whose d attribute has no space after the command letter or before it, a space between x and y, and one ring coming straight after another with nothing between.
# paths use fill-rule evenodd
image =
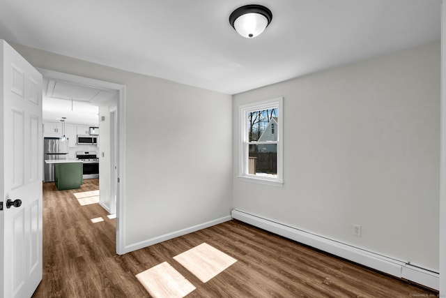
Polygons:
<instances>
[{"instance_id":1,"label":"open white panelled door with black knob at far left","mask_svg":"<svg viewBox=\"0 0 446 298\"><path fill-rule=\"evenodd\" d=\"M0 47L0 298L31 297L43 274L42 75Z\"/></svg>"}]
</instances>

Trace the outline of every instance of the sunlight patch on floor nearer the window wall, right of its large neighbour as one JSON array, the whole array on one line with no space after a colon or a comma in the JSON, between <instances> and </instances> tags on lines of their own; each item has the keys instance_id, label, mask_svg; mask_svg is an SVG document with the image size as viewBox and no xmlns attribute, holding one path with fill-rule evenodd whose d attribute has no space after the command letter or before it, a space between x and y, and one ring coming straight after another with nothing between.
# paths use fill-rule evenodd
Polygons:
<instances>
[{"instance_id":1,"label":"sunlight patch on floor nearer the window wall, right of its large neighbour","mask_svg":"<svg viewBox=\"0 0 446 298\"><path fill-rule=\"evenodd\" d=\"M206 243L176 255L174 260L197 276L203 283L237 262L236 259Z\"/></svg>"}]
</instances>

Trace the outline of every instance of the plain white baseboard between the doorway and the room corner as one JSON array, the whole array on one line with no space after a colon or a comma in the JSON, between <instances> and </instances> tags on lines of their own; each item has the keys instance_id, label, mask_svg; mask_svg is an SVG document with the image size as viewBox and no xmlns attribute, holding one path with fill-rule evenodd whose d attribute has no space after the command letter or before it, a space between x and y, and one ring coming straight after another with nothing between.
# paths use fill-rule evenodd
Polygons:
<instances>
[{"instance_id":1,"label":"plain white baseboard between the doorway and the room corner","mask_svg":"<svg viewBox=\"0 0 446 298\"><path fill-rule=\"evenodd\" d=\"M134 244L130 244L128 246L125 246L125 248L124 248L125 251L123 253L130 253L130 251L136 251L137 249L140 249L140 248L151 246L153 244L157 244L157 243L160 243L162 241L167 241L169 239L174 239L176 237L180 237L180 236L183 236L185 234L192 233L192 232L197 232L198 230L203 230L203 229L212 227L213 225L218 225L219 223L224 223L225 221L231 221L231 220L232 220L231 216L224 216L224 217L221 217L221 218L217 218L217 219L215 219L213 221L208 221L206 223L201 223L199 225L194 225L194 226L192 226L190 228L185 228L185 229L182 229L182 230L171 232L169 234L164 234L164 235L161 235L161 236L158 236L158 237L155 237L155 238L151 238L151 239L140 241L140 242L137 242L137 243L134 243Z\"/></svg>"}]
</instances>

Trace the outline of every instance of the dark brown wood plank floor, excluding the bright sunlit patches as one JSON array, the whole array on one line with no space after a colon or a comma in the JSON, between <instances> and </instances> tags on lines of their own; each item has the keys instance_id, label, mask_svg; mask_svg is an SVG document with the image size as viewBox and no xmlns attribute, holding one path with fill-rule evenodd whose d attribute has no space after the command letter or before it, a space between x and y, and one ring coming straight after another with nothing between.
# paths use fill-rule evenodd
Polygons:
<instances>
[{"instance_id":1,"label":"dark brown wood plank floor, excluding the bright sunlit patches","mask_svg":"<svg viewBox=\"0 0 446 298\"><path fill-rule=\"evenodd\" d=\"M43 281L33 297L150 297L135 275L164 261L197 288L187 297L438 294L238 221L116 255L116 219L107 218L99 204L81 206L73 195L97 189L98 179L85 180L81 189L71 191L43 185ZM91 222L98 217L104 221ZM203 242L238 260L207 283L173 259Z\"/></svg>"}]
</instances>

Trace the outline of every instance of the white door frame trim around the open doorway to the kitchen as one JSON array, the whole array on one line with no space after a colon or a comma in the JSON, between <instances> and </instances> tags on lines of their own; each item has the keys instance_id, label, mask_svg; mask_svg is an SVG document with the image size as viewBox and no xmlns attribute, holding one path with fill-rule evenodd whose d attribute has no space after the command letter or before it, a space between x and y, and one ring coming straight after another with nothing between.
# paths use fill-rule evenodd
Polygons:
<instances>
[{"instance_id":1,"label":"white door frame trim around the open doorway to the kitchen","mask_svg":"<svg viewBox=\"0 0 446 298\"><path fill-rule=\"evenodd\" d=\"M68 73L60 73L45 68L36 68L43 77L50 77L57 80L84 84L91 87L100 87L118 91L118 189L116 193L116 253L122 255L125 253L125 85L95 80L89 77L80 77Z\"/></svg>"}]
</instances>

